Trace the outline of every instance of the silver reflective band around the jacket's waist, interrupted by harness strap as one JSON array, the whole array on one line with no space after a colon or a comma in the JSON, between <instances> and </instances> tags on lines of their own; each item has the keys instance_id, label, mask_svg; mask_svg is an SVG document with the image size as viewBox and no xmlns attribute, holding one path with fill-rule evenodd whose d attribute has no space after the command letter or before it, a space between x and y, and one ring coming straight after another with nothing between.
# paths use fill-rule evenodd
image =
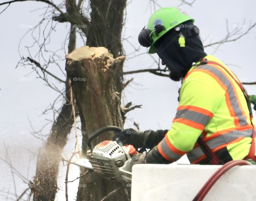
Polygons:
<instances>
[{"instance_id":1,"label":"silver reflective band around the jacket's waist, interrupted by harness strap","mask_svg":"<svg viewBox=\"0 0 256 201\"><path fill-rule=\"evenodd\" d=\"M223 135L220 135L216 138L213 138L213 139L209 140L208 142L206 142L206 144L213 150L216 147L219 147L223 144L229 143L239 137L251 138L252 134L253 134L253 129L248 129L248 130L244 130L244 131L235 130L235 131L231 131L231 132L225 133ZM190 152L187 153L187 157L190 162L198 159L199 157L201 157L203 155L204 155L204 153L199 146L192 149Z\"/></svg>"}]
</instances>

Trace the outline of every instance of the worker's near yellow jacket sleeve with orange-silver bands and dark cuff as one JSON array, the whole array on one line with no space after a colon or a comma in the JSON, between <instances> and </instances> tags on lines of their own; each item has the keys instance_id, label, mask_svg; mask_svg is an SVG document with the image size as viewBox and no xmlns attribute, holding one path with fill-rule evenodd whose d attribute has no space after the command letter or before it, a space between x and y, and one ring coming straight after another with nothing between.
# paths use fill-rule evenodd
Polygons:
<instances>
[{"instance_id":1,"label":"worker's near yellow jacket sleeve with orange-silver bands and dark cuff","mask_svg":"<svg viewBox=\"0 0 256 201\"><path fill-rule=\"evenodd\" d=\"M169 161L171 163L191 151L217 110L220 103L218 97L207 84L185 80L171 129L150 151L152 153L147 154L146 162L165 164Z\"/></svg>"}]
</instances>

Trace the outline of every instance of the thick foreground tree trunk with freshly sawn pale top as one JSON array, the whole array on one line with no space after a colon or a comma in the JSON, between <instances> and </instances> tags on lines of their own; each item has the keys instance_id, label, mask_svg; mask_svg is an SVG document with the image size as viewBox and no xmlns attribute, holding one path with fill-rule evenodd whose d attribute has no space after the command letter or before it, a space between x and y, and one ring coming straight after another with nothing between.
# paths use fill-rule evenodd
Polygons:
<instances>
[{"instance_id":1,"label":"thick foreground tree trunk with freshly sawn pale top","mask_svg":"<svg viewBox=\"0 0 256 201\"><path fill-rule=\"evenodd\" d=\"M82 153L86 157L86 139L90 134L104 126L123 127L121 92L116 87L115 77L122 73L125 57L113 59L113 55L106 48L85 46L73 51L66 58L66 71L71 78L82 123ZM111 139L111 133L107 133L95 139L93 146ZM82 170L81 174L85 171ZM103 179L89 171L80 178L79 186L82 187L78 189L77 200L101 200L111 191L124 186L124 183ZM126 192L121 188L109 200L127 200Z\"/></svg>"}]
</instances>

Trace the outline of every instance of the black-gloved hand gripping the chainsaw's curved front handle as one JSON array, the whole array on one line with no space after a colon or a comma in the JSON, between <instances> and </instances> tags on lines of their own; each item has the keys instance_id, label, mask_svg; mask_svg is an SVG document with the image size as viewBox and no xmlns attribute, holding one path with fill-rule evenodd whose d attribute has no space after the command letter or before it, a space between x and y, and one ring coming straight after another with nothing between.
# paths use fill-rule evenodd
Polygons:
<instances>
[{"instance_id":1,"label":"black-gloved hand gripping the chainsaw's curved front handle","mask_svg":"<svg viewBox=\"0 0 256 201\"><path fill-rule=\"evenodd\" d=\"M135 149L138 149L143 146L144 133L134 129L125 129L114 135L114 139L117 138L118 141L122 142L124 145L131 144Z\"/></svg>"}]
</instances>

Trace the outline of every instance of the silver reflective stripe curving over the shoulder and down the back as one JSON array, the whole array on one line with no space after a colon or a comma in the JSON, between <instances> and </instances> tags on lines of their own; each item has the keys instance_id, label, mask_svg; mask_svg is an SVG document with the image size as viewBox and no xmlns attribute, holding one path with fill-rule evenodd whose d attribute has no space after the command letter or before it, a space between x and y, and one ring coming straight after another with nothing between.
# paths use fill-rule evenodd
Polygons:
<instances>
[{"instance_id":1,"label":"silver reflective stripe curving over the shoulder and down the back","mask_svg":"<svg viewBox=\"0 0 256 201\"><path fill-rule=\"evenodd\" d=\"M232 108L234 109L235 116L238 117L239 119L239 124L240 126L245 126L247 125L246 117L243 116L242 110L239 107L239 104L237 102L237 97L235 96L234 88L231 84L231 82L226 78L226 76L217 68L210 66L210 65L202 65L197 67L197 69L205 69L213 74L215 74L221 82L227 87L227 92L229 94L229 99L232 105Z\"/></svg>"}]
</instances>

